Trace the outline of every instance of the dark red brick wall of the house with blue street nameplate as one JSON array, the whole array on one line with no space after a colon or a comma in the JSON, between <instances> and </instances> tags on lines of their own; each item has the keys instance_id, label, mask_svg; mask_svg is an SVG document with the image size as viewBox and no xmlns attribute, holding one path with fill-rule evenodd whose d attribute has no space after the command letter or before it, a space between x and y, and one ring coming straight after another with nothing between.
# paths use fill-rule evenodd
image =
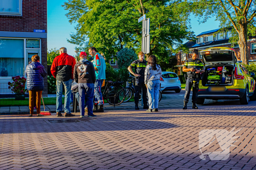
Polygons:
<instances>
[{"instance_id":1,"label":"dark red brick wall of the house with blue street nameplate","mask_svg":"<svg viewBox=\"0 0 256 170\"><path fill-rule=\"evenodd\" d=\"M35 33L34 29L45 30L45 33ZM5 32L8 36L4 36ZM22 16L0 14L0 33L0 37L40 38L40 59L47 72L47 0L22 0ZM44 80L47 82L47 77ZM47 87L45 89L47 91Z\"/></svg>"}]
</instances>

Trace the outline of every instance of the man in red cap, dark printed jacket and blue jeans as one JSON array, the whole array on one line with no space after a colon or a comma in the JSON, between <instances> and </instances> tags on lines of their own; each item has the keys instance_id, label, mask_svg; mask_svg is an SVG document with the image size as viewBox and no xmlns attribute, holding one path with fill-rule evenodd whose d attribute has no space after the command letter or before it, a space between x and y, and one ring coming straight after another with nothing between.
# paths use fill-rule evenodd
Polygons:
<instances>
[{"instance_id":1,"label":"man in red cap, dark printed jacket and blue jeans","mask_svg":"<svg viewBox=\"0 0 256 170\"><path fill-rule=\"evenodd\" d=\"M94 83L96 81L95 69L92 62L87 59L86 52L80 53L80 61L74 68L74 80L78 83L80 117L84 117L84 99L88 107L88 117L93 114Z\"/></svg>"}]
</instances>

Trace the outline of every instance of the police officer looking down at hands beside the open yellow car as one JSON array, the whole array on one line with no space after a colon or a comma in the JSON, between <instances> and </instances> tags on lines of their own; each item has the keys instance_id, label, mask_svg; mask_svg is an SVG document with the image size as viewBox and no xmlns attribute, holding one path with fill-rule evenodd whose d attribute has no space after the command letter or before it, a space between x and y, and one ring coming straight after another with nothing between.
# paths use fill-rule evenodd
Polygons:
<instances>
[{"instance_id":1,"label":"police officer looking down at hands beside the open yellow car","mask_svg":"<svg viewBox=\"0 0 256 170\"><path fill-rule=\"evenodd\" d=\"M188 75L188 78L186 81L186 87L185 87L183 109L187 109L187 103L188 103L191 87L193 87L192 108L198 108L196 106L198 83L199 83L199 80L201 79L200 73L204 72L204 66L202 61L197 59L197 56L198 56L198 50L194 49L192 51L192 58L186 60L182 67L182 71L187 72L187 75Z\"/></svg>"}]
</instances>

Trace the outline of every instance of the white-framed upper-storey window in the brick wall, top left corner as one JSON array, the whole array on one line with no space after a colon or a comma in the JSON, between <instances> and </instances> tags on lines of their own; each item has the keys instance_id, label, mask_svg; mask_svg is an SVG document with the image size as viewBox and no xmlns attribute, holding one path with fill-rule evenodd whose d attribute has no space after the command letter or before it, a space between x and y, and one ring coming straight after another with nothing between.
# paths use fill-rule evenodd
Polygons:
<instances>
[{"instance_id":1,"label":"white-framed upper-storey window in the brick wall, top left corner","mask_svg":"<svg viewBox=\"0 0 256 170\"><path fill-rule=\"evenodd\" d=\"M22 15L22 0L0 0L0 15Z\"/></svg>"}]
</instances>

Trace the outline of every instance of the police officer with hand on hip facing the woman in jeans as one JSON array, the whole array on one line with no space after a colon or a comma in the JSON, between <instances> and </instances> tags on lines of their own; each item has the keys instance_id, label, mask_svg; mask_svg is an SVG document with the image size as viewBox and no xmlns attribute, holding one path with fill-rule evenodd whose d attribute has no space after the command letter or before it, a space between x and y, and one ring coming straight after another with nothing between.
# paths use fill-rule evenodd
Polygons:
<instances>
[{"instance_id":1,"label":"police officer with hand on hip facing the woman in jeans","mask_svg":"<svg viewBox=\"0 0 256 170\"><path fill-rule=\"evenodd\" d=\"M142 97L143 97L143 109L148 109L147 105L147 88L144 83L144 77L145 77L145 69L147 66L147 61L144 60L144 52L139 52L138 54L139 59L132 62L132 64L128 67L128 71L136 76L135 80L135 96L134 96L134 102L135 102L135 110L139 110L139 94L140 90L142 89ZM132 68L135 68L135 73L132 71Z\"/></svg>"}]
</instances>

